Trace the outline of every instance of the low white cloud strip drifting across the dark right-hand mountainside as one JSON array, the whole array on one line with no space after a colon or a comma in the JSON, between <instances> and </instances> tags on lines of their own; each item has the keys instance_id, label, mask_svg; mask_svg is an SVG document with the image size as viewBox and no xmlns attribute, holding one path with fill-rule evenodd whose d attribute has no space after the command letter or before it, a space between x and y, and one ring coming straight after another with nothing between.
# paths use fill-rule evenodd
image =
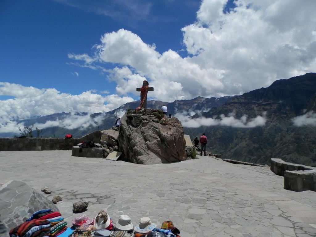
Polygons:
<instances>
[{"instance_id":1,"label":"low white cloud strip drifting across the dark right-hand mountainside","mask_svg":"<svg viewBox=\"0 0 316 237\"><path fill-rule=\"evenodd\" d=\"M177 117L184 127L188 128L198 128L200 126L231 126L234 128L254 128L257 126L264 126L266 122L266 113L264 112L262 116L257 116L256 118L248 119L247 115L243 115L240 119L235 118L234 112L230 113L228 117L225 115L220 115L220 118L205 118L199 117L192 119L191 116L194 112L190 114L186 112L177 113L174 117Z\"/></svg>"}]
</instances>

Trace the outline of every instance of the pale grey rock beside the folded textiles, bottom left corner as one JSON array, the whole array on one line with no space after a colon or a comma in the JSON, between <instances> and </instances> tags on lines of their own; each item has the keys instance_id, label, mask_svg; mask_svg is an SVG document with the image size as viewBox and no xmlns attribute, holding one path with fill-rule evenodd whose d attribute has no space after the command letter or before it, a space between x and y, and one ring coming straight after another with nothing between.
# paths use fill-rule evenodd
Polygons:
<instances>
[{"instance_id":1,"label":"pale grey rock beside the folded textiles, bottom left corner","mask_svg":"<svg viewBox=\"0 0 316 237\"><path fill-rule=\"evenodd\" d=\"M1 220L8 229L25 222L35 211L48 208L59 211L50 200L26 183L16 180L0 183Z\"/></svg>"}]
</instances>

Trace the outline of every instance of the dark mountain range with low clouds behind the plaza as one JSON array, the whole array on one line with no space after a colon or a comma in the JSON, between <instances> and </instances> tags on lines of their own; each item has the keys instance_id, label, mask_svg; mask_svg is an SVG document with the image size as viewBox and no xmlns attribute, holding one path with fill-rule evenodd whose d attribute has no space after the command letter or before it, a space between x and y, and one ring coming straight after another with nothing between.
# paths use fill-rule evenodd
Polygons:
<instances>
[{"instance_id":1,"label":"dark mountain range with low clouds behind the plaza","mask_svg":"<svg viewBox=\"0 0 316 237\"><path fill-rule=\"evenodd\" d=\"M40 134L42 137L64 137L72 133L74 137L80 137L96 129L112 127L115 113L122 115L128 108L138 105L139 101L133 101L106 113L62 112L19 122L32 125L62 121L73 115L88 117L93 122L80 129L51 126ZM282 158L287 162L316 166L316 122L302 126L294 123L295 118L316 112L316 73L277 80L267 88L232 97L197 97L171 103L147 101L149 108L161 108L162 105L166 105L172 115L185 114L186 125L190 121L204 121L201 126L184 127L185 133L193 140L204 132L208 137L207 150L222 154L223 158L258 164L269 164L270 158ZM255 124L256 119L260 124ZM12 136L0 133L0 137Z\"/></svg>"}]
</instances>

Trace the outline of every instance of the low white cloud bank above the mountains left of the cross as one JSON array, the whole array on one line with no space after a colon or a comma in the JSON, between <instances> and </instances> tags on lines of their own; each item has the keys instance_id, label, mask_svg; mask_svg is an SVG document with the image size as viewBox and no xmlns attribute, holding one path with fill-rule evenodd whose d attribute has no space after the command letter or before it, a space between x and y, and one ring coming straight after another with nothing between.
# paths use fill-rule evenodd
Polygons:
<instances>
[{"instance_id":1,"label":"low white cloud bank above the mountains left of the cross","mask_svg":"<svg viewBox=\"0 0 316 237\"><path fill-rule=\"evenodd\" d=\"M0 95L14 99L1 100L0 132L17 128L14 120L26 119L34 115L49 115L58 112L108 112L122 104L134 101L127 96L111 94L102 96L95 90L78 95L60 93L53 88L25 87L20 84L0 82ZM82 118L80 118L82 119ZM65 122L64 124L67 124ZM22 124L20 126L23 126Z\"/></svg>"}]
</instances>

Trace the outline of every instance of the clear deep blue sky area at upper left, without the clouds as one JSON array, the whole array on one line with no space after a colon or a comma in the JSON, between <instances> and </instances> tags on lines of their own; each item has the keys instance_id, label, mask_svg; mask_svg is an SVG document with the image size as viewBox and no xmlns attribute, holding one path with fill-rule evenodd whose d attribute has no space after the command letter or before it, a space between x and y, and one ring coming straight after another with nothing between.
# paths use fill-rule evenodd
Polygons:
<instances>
[{"instance_id":1,"label":"clear deep blue sky area at upper left, without the clouds","mask_svg":"<svg viewBox=\"0 0 316 237\"><path fill-rule=\"evenodd\" d=\"M96 8L119 5L115 1L91 2ZM142 2L148 1L138 4ZM153 1L147 15L116 8L118 15L112 17L87 10L87 1L78 1L78 7L68 1L1 1L1 81L71 94L96 88L113 93L114 82L107 82L99 71L67 64L71 62L68 53L90 52L102 34L120 28L155 43L159 52L179 51L184 48L180 29L195 20L199 2L178 3Z\"/></svg>"}]
</instances>

